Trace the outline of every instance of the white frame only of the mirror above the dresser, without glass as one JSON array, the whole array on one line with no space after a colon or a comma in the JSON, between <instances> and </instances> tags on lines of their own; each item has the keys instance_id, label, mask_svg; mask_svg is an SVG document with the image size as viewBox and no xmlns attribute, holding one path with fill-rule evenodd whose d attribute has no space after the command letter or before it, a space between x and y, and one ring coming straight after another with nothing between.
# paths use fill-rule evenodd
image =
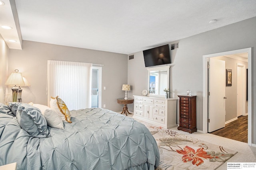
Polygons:
<instances>
[{"instance_id":1,"label":"white frame only of the mirror above the dresser, without glass","mask_svg":"<svg viewBox=\"0 0 256 170\"><path fill-rule=\"evenodd\" d=\"M160 67L152 67L152 68L147 68L148 70L148 92L149 92L149 82L150 82L150 71L167 71L167 84L166 88L170 89L170 65L167 66L160 66ZM154 97L165 97L165 95L160 95L160 94L148 94L148 96L154 96Z\"/></svg>"}]
</instances>

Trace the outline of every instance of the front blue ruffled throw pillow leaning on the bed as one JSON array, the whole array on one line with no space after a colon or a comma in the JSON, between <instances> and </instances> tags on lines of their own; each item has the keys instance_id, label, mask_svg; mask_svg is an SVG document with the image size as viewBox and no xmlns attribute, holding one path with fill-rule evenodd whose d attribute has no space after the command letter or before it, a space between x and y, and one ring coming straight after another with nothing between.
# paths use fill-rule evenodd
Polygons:
<instances>
[{"instance_id":1,"label":"front blue ruffled throw pillow leaning on the bed","mask_svg":"<svg viewBox=\"0 0 256 170\"><path fill-rule=\"evenodd\" d=\"M44 138L50 137L47 122L40 109L30 104L20 104L16 113L20 127L31 136Z\"/></svg>"}]
</instances>

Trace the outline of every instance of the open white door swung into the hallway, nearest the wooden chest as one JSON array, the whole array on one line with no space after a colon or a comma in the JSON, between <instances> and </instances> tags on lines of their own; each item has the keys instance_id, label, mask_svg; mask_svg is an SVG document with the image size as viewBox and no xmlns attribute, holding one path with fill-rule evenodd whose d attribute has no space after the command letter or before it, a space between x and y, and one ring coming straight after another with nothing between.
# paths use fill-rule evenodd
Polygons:
<instances>
[{"instance_id":1,"label":"open white door swung into the hallway, nearest the wooden chest","mask_svg":"<svg viewBox=\"0 0 256 170\"><path fill-rule=\"evenodd\" d=\"M225 61L210 58L208 69L208 132L225 127Z\"/></svg>"}]
</instances>

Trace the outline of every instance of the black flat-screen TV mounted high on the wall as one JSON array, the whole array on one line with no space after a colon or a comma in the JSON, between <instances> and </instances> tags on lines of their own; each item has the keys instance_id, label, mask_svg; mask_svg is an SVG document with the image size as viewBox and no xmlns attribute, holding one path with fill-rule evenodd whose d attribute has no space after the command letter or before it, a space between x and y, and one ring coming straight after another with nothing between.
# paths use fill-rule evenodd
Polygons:
<instances>
[{"instance_id":1,"label":"black flat-screen TV mounted high on the wall","mask_svg":"<svg viewBox=\"0 0 256 170\"><path fill-rule=\"evenodd\" d=\"M171 64L170 49L168 44L144 50L143 55L146 67Z\"/></svg>"}]
</instances>

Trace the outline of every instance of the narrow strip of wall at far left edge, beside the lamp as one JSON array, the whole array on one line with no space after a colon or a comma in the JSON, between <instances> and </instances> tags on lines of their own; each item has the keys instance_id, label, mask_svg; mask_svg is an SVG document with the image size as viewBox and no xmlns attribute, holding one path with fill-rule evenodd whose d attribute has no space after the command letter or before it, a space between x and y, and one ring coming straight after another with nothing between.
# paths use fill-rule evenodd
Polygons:
<instances>
[{"instance_id":1,"label":"narrow strip of wall at far left edge, beside the lamp","mask_svg":"<svg viewBox=\"0 0 256 170\"><path fill-rule=\"evenodd\" d=\"M4 84L10 74L10 73L8 74L9 51L10 50L8 46L6 45L4 39L0 34L0 103L2 104L4 104L6 90L8 90ZM12 98L12 96L10 95L9 98Z\"/></svg>"}]
</instances>

